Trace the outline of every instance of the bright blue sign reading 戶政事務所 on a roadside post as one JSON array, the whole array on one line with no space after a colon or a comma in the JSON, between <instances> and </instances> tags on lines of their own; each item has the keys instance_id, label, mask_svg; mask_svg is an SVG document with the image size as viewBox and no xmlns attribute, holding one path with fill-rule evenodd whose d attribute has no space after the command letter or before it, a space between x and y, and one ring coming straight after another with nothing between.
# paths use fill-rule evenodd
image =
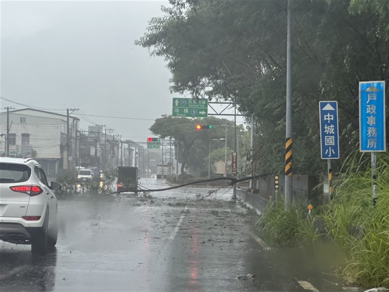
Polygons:
<instances>
[{"instance_id":1,"label":"bright blue sign reading \u6236\u653f\u4e8b\u52d9\u6240 on a roadside post","mask_svg":"<svg viewBox=\"0 0 389 292\"><path fill-rule=\"evenodd\" d=\"M359 151L386 151L385 81L359 82Z\"/></svg>"}]
</instances>

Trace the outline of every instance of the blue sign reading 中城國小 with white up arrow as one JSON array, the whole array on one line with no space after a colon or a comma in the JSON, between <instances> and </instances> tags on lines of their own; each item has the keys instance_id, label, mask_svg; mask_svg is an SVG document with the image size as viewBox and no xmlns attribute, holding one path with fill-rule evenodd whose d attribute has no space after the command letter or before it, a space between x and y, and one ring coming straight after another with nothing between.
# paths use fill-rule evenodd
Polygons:
<instances>
[{"instance_id":1,"label":"blue sign reading \u4e2d\u57ce\u570b\u5c0f with white up arrow","mask_svg":"<svg viewBox=\"0 0 389 292\"><path fill-rule=\"evenodd\" d=\"M321 159L339 159L337 101L319 101Z\"/></svg>"}]
</instances>

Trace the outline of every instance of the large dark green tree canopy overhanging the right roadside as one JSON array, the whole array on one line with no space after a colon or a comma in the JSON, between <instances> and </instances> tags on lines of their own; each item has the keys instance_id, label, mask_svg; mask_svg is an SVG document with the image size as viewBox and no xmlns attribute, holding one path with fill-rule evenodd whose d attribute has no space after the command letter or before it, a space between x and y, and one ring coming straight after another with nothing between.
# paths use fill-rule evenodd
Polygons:
<instances>
[{"instance_id":1,"label":"large dark green tree canopy overhanging the right roadside","mask_svg":"<svg viewBox=\"0 0 389 292\"><path fill-rule=\"evenodd\" d=\"M294 172L323 173L318 101L338 101L343 159L358 149L358 82L386 81L388 104L389 3L289 3ZM241 112L253 114L258 126L256 169L283 172L287 1L170 4L162 7L164 16L150 20L136 43L167 61L171 91L233 100Z\"/></svg>"}]
</instances>

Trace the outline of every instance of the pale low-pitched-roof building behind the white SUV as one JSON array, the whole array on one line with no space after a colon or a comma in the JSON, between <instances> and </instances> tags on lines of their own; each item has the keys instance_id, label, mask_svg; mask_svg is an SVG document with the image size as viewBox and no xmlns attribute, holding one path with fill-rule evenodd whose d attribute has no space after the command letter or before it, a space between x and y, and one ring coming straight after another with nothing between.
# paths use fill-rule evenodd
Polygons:
<instances>
[{"instance_id":1,"label":"pale low-pitched-roof building behind the white SUV","mask_svg":"<svg viewBox=\"0 0 389 292\"><path fill-rule=\"evenodd\" d=\"M6 152L5 139L9 143L9 155L34 157L46 174L55 176L62 169L74 167L79 118L66 114L25 108L9 111L8 137L0 137L0 149ZM7 112L0 113L0 132L7 132Z\"/></svg>"}]
</instances>

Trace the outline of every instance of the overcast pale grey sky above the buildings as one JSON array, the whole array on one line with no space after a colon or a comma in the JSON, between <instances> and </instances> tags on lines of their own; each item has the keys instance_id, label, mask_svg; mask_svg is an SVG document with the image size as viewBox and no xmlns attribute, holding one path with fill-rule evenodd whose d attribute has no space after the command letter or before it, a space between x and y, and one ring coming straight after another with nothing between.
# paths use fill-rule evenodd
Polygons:
<instances>
[{"instance_id":1,"label":"overcast pale grey sky above the buildings","mask_svg":"<svg viewBox=\"0 0 389 292\"><path fill-rule=\"evenodd\" d=\"M50 109L155 119L171 114L170 73L134 40L167 1L1 1L1 96ZM1 100L1 109L22 106ZM62 113L66 113L63 111ZM153 121L88 117L145 141ZM81 119L81 127L87 128Z\"/></svg>"}]
</instances>

